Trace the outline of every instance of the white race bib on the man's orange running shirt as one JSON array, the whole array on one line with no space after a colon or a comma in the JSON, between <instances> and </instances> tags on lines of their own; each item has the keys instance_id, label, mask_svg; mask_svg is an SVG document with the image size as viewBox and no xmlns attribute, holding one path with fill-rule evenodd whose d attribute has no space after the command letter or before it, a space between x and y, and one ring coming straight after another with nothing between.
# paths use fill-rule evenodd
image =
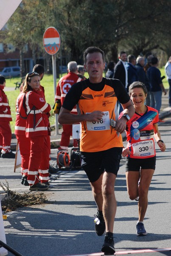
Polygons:
<instances>
[{"instance_id":1,"label":"white race bib on the man's orange running shirt","mask_svg":"<svg viewBox=\"0 0 171 256\"><path fill-rule=\"evenodd\" d=\"M87 122L87 130L88 131L106 131L110 130L110 118L109 118L109 111L103 111L105 114L101 120L98 122ZM90 113L86 113L90 114Z\"/></svg>"}]
</instances>

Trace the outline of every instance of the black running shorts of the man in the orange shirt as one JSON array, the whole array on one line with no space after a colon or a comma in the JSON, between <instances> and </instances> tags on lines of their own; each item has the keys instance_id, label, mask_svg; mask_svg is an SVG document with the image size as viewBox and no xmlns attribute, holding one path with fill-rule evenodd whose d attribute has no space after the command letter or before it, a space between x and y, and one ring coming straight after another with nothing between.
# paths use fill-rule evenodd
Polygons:
<instances>
[{"instance_id":1,"label":"black running shorts of the man in the orange shirt","mask_svg":"<svg viewBox=\"0 0 171 256\"><path fill-rule=\"evenodd\" d=\"M81 152L81 166L90 182L95 182L105 172L116 176L119 170L122 148L109 148L98 152Z\"/></svg>"}]
</instances>

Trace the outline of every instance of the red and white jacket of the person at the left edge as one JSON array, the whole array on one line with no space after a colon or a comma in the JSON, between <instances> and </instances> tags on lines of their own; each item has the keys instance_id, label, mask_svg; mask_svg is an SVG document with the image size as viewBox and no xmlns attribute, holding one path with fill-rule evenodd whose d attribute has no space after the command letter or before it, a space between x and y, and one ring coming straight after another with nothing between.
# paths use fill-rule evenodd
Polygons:
<instances>
[{"instance_id":1,"label":"red and white jacket of the person at the left edge","mask_svg":"<svg viewBox=\"0 0 171 256\"><path fill-rule=\"evenodd\" d=\"M8 98L3 91L3 86L0 86L0 122L12 121L10 106L8 105Z\"/></svg>"}]
</instances>

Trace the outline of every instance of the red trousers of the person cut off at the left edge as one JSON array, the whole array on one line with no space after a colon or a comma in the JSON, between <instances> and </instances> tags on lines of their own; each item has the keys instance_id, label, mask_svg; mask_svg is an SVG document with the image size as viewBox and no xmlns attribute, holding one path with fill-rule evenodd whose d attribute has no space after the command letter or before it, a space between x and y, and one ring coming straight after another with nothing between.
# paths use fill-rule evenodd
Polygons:
<instances>
[{"instance_id":1,"label":"red trousers of the person cut off at the left edge","mask_svg":"<svg viewBox=\"0 0 171 256\"><path fill-rule=\"evenodd\" d=\"M11 147L11 127L9 121L0 120L0 149L10 151ZM4 152L5 153L5 152Z\"/></svg>"}]
</instances>

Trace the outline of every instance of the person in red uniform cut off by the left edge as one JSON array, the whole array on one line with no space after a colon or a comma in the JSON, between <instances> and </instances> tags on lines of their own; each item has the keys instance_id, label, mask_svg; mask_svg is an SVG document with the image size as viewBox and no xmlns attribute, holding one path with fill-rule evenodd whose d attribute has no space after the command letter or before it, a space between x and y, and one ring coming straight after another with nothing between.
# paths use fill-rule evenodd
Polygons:
<instances>
[{"instance_id":1,"label":"person in red uniform cut off by the left edge","mask_svg":"<svg viewBox=\"0 0 171 256\"><path fill-rule=\"evenodd\" d=\"M4 93L6 79L0 75L0 149L2 158L15 158L15 154L11 151L11 127L10 121L11 110L8 105L8 98Z\"/></svg>"}]
</instances>

